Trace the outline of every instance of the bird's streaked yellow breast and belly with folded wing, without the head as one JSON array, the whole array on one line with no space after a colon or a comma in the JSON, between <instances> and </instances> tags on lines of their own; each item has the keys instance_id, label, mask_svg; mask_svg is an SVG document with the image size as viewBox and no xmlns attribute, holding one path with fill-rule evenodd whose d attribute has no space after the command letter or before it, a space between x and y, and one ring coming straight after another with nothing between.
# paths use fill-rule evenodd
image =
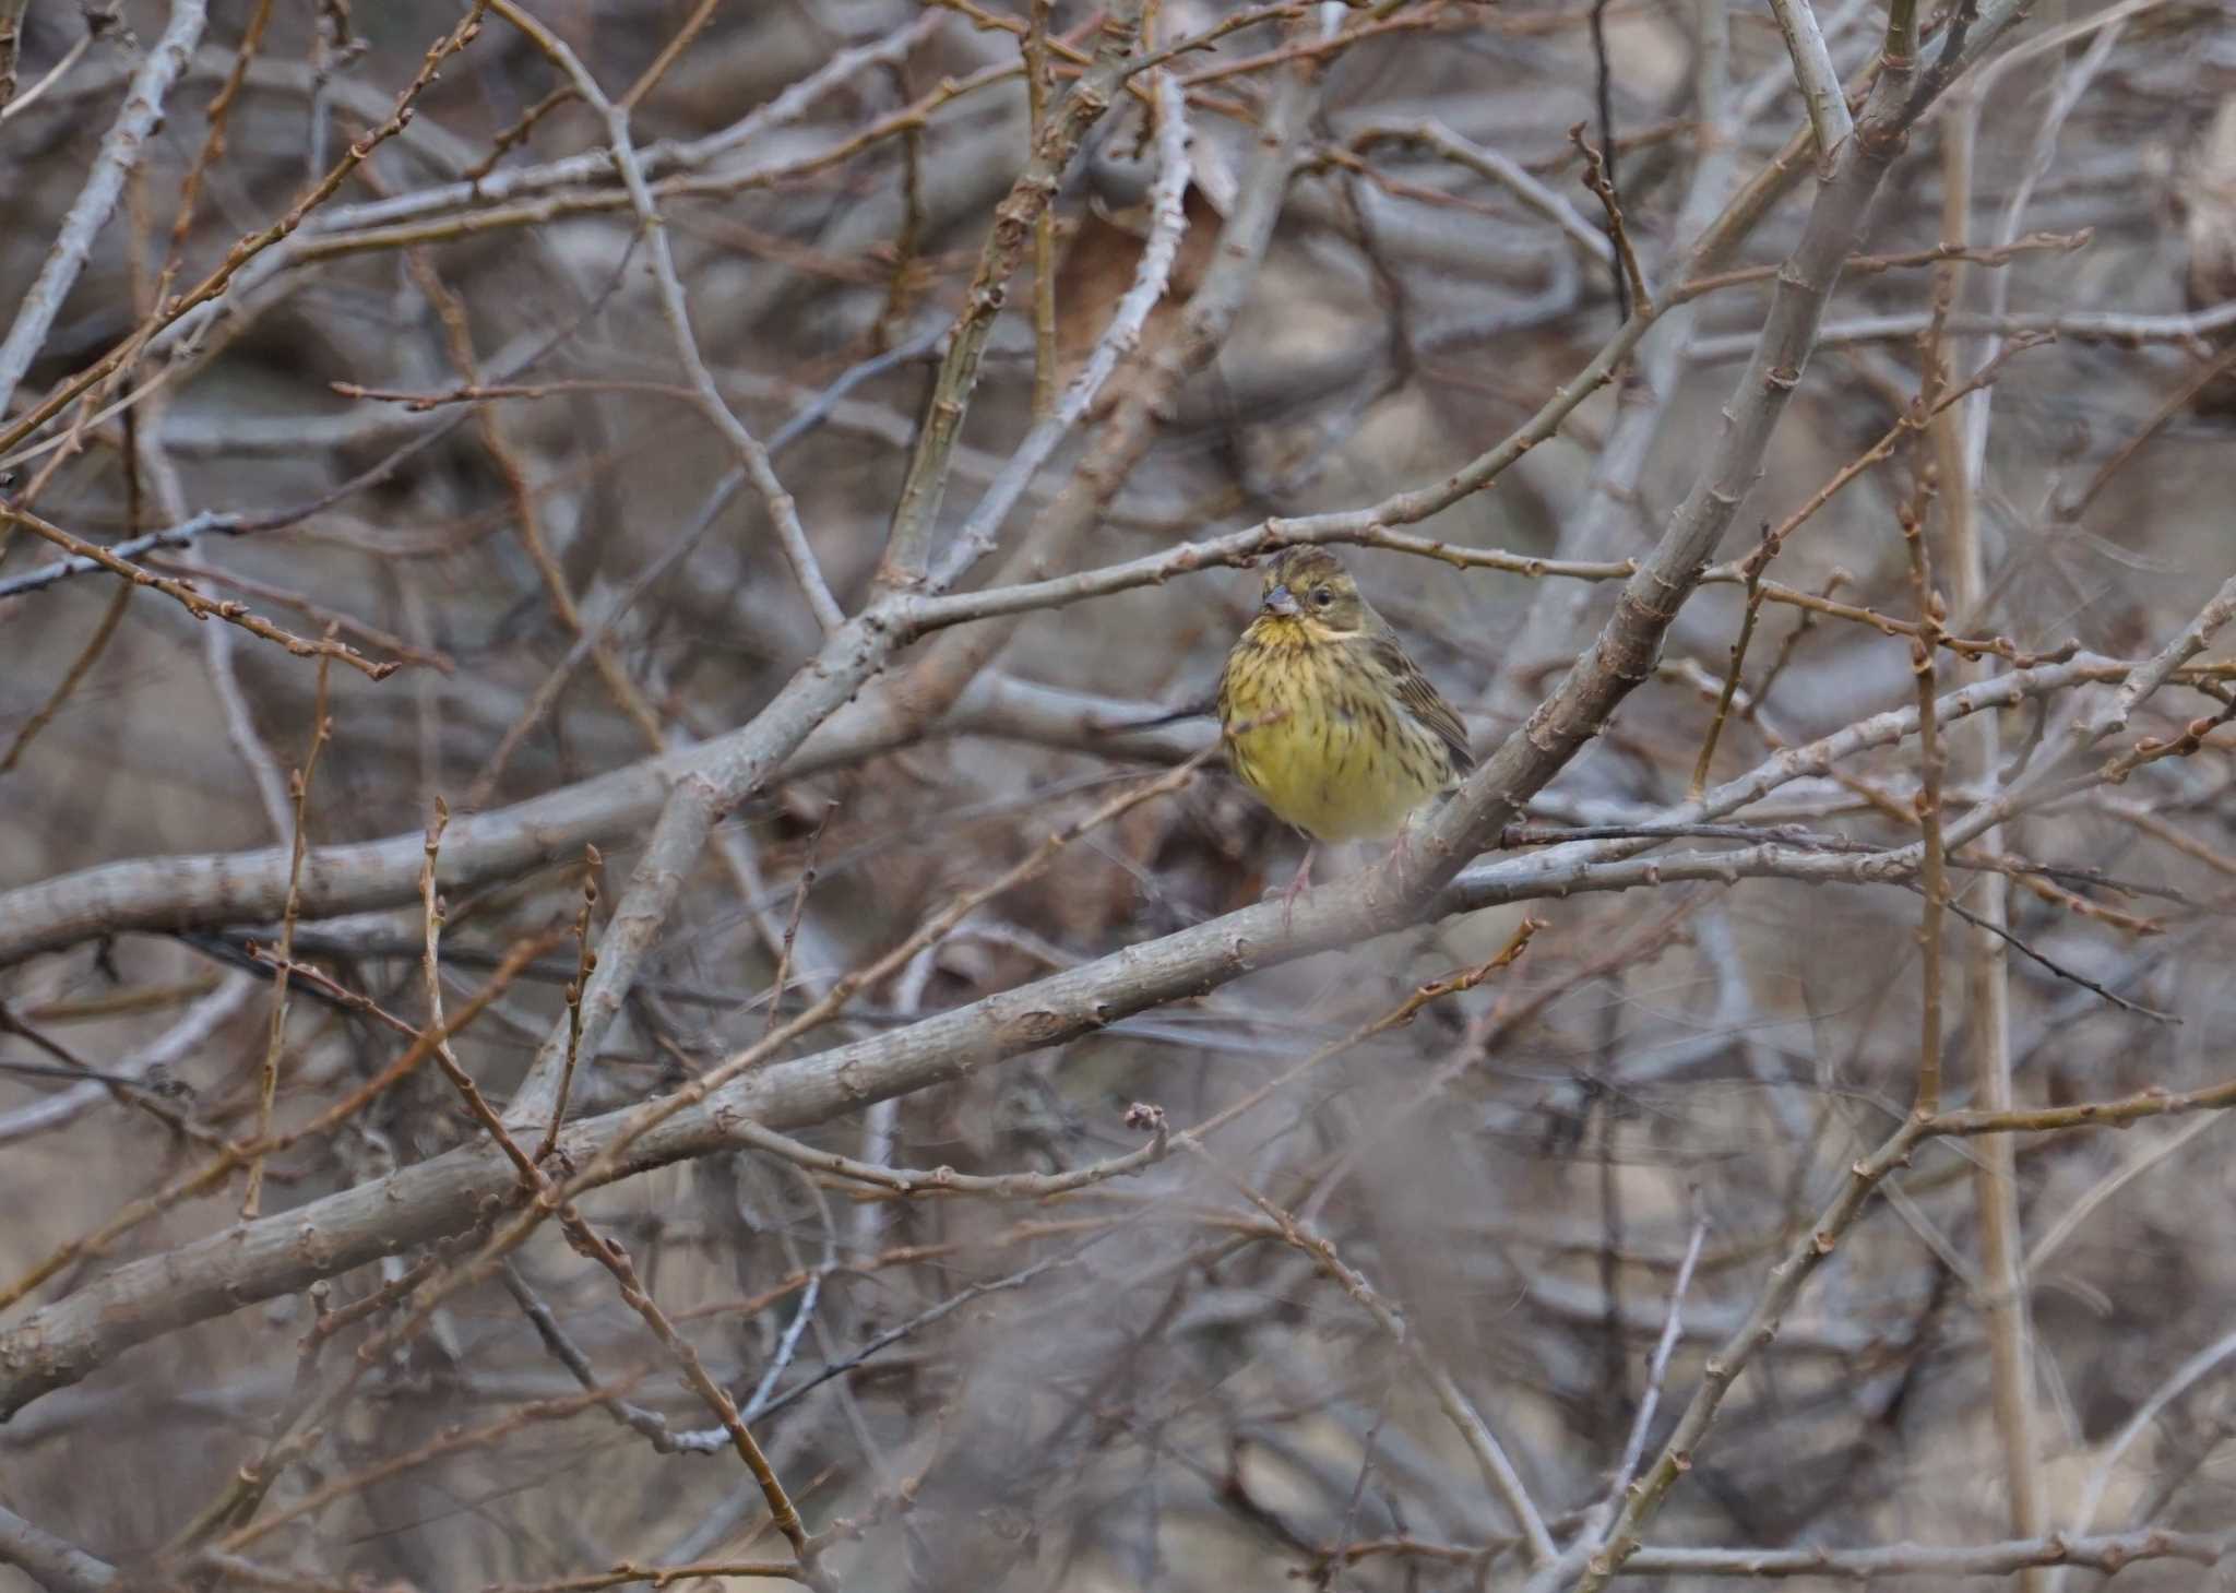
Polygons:
<instances>
[{"instance_id":1,"label":"bird's streaked yellow breast and belly with folded wing, without the head","mask_svg":"<svg viewBox=\"0 0 2236 1593\"><path fill-rule=\"evenodd\" d=\"M1219 696L1228 761L1275 814L1319 841L1395 835L1447 785L1436 736L1342 640L1261 618Z\"/></svg>"}]
</instances>

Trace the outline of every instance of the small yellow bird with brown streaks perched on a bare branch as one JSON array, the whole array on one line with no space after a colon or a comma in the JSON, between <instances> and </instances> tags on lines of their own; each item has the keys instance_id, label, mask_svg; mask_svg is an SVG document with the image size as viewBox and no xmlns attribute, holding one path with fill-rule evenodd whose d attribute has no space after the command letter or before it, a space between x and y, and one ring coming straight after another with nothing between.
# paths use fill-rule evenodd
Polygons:
<instances>
[{"instance_id":1,"label":"small yellow bird with brown streaks perched on a bare branch","mask_svg":"<svg viewBox=\"0 0 2236 1593\"><path fill-rule=\"evenodd\" d=\"M1344 562L1288 548L1259 577L1259 609L1219 676L1228 765L1277 819L1317 843L1398 837L1476 767L1467 727L1359 595Z\"/></svg>"}]
</instances>

